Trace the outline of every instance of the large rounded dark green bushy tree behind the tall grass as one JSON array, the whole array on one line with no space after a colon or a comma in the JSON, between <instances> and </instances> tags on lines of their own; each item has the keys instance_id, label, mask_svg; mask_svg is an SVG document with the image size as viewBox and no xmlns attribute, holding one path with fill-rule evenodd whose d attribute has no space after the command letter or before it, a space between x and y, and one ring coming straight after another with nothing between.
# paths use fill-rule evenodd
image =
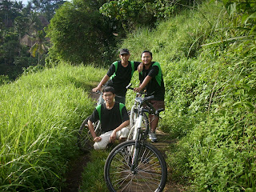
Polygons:
<instances>
[{"instance_id":1,"label":"large rounded dark green bushy tree behind the tall grass","mask_svg":"<svg viewBox=\"0 0 256 192\"><path fill-rule=\"evenodd\" d=\"M54 15L47 29L53 46L50 60L78 63L109 63L115 46L113 27L99 13L103 1L66 2Z\"/></svg>"}]
</instances>

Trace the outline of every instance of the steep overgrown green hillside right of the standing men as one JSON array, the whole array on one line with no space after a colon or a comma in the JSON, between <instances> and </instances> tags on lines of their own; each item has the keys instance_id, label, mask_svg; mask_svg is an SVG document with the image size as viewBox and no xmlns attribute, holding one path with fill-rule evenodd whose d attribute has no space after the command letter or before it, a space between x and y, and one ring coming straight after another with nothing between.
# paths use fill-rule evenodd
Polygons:
<instances>
[{"instance_id":1,"label":"steep overgrown green hillside right of the standing men","mask_svg":"<svg viewBox=\"0 0 256 192\"><path fill-rule=\"evenodd\" d=\"M122 44L134 60L151 50L162 66L162 129L179 138L167 161L195 191L256 190L256 45L239 22L210 1Z\"/></svg>"}]
</instances>

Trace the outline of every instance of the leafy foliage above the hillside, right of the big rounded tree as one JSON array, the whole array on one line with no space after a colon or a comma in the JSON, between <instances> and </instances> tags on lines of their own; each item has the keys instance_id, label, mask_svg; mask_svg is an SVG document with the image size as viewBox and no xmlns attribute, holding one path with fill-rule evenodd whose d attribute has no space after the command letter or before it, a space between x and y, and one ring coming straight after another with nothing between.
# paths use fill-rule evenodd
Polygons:
<instances>
[{"instance_id":1,"label":"leafy foliage above the hillside, right of the big rounded tree","mask_svg":"<svg viewBox=\"0 0 256 192\"><path fill-rule=\"evenodd\" d=\"M193 1L182 0L118 0L104 3L100 12L122 24L126 34L141 26L154 26L163 18L170 18ZM198 1L201 2L201 1ZM194 5L192 5L194 6Z\"/></svg>"}]
</instances>

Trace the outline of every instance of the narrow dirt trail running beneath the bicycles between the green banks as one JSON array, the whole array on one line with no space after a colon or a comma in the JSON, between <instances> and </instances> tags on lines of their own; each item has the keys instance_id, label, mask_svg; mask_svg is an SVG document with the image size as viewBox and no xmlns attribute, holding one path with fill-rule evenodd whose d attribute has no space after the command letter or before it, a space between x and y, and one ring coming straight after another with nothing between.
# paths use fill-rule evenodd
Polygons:
<instances>
[{"instance_id":1,"label":"narrow dirt trail running beneath the bicycles between the green banks","mask_svg":"<svg viewBox=\"0 0 256 192\"><path fill-rule=\"evenodd\" d=\"M90 93L90 97L95 101L98 99L98 94ZM166 158L166 148L174 140L168 139L168 134L162 131L156 131L158 142L152 143L161 151L162 155ZM90 161L89 154L81 154L77 159L70 162L70 170L66 174L66 187L62 189L62 192L78 192L79 186L82 184L82 172L86 163ZM168 176L165 189L163 192L182 192L184 191L182 186L179 186L175 182L171 181L170 170L168 169Z\"/></svg>"}]
</instances>

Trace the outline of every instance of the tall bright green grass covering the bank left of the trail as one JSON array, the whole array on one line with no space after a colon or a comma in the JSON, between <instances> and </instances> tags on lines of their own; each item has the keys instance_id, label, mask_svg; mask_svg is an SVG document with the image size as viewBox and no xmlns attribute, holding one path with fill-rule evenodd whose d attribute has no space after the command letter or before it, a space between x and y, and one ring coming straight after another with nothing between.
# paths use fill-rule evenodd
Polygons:
<instances>
[{"instance_id":1,"label":"tall bright green grass covering the bank left of the trail","mask_svg":"<svg viewBox=\"0 0 256 192\"><path fill-rule=\"evenodd\" d=\"M62 65L0 86L0 190L58 191L105 71Z\"/></svg>"}]
</instances>

